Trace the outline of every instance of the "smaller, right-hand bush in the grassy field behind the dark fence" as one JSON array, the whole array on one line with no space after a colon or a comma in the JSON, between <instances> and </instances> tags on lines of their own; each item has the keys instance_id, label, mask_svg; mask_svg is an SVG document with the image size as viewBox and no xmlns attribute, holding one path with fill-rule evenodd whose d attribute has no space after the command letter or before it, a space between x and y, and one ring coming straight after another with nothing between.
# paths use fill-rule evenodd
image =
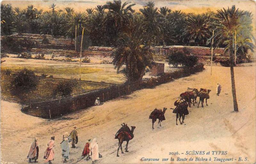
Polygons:
<instances>
[{"instance_id":1,"label":"smaller, right-hand bush in the grassy field behind the dark fence","mask_svg":"<svg viewBox=\"0 0 256 164\"><path fill-rule=\"evenodd\" d=\"M68 80L63 80L58 83L55 90L53 91L53 96L59 94L60 96L68 96L72 93L72 85Z\"/></svg>"}]
</instances>

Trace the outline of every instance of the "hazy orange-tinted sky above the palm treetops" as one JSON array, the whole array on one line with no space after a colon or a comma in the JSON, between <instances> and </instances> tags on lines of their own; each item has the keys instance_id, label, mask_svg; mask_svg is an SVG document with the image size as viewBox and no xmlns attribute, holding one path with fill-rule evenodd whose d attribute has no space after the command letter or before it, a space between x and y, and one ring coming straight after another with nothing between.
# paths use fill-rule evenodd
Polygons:
<instances>
[{"instance_id":1,"label":"hazy orange-tinted sky above the palm treetops","mask_svg":"<svg viewBox=\"0 0 256 164\"><path fill-rule=\"evenodd\" d=\"M48 1L48 0L34 0L34 1L9 1L4 0L4 4L12 4L13 7L25 8L30 4L33 4L38 9L49 10L49 6L55 3L60 9L65 7L72 7L75 11L85 11L87 8L94 8L99 4L105 4L108 0L66 0L66 1ZM112 1L112 0L110 0ZM123 0L124 2L124 0ZM142 8L142 6L148 2L148 0L131 0L135 3L134 9ZM202 13L205 11L216 11L220 8L227 8L233 4L236 7L252 11L255 15L256 4L252 0L153 0L156 7L167 6L172 10L182 10L184 12Z\"/></svg>"}]
</instances>

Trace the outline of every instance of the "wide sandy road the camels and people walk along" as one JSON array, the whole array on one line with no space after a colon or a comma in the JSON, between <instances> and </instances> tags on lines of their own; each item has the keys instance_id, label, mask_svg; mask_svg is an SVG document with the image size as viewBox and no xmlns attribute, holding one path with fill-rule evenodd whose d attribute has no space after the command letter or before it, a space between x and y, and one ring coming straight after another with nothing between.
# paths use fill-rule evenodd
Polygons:
<instances>
[{"instance_id":1,"label":"wide sandy road the camels and people walk along","mask_svg":"<svg viewBox=\"0 0 256 164\"><path fill-rule=\"evenodd\" d=\"M25 115L19 111L18 104L1 101L1 161L27 163L29 146L33 137L36 137L40 144L39 163L44 163L43 153L47 141L54 135L56 146L53 162L62 163L59 143L62 135L76 125L79 142L77 147L70 151L69 163L91 163L80 160L80 157L87 139L94 137L98 138L100 153L103 155L99 163L147 163L140 159L177 158L177 155L169 155L169 152L177 151L182 158L185 157L186 151L193 150L228 151L225 158L247 157L249 161L240 163L253 163L256 161L255 64L235 68L238 113L232 113L230 69L215 66L212 72L210 76L210 67L206 67L205 71L196 75L180 78L153 89L136 91L128 96L105 102L102 106L91 107L55 120ZM216 96L218 82L222 85L220 96ZM204 108L189 108L190 113L183 125L176 125L175 115L168 109L163 126L157 128L156 124L155 130L152 130L151 120L148 119L150 112L154 108L173 107L173 102L187 87L211 89L209 106L204 104ZM114 135L123 122L129 126L136 126L136 129L134 139L128 146L129 152L119 152L120 157L116 157L118 141L114 139ZM224 158L221 155L211 157Z\"/></svg>"}]
</instances>

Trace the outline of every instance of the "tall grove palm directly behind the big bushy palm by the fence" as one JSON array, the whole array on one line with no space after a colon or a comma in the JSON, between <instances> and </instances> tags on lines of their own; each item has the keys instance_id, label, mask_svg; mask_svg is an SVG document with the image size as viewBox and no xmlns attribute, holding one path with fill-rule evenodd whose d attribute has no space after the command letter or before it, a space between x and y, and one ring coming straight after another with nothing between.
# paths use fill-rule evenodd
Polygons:
<instances>
[{"instance_id":1,"label":"tall grove palm directly behind the big bushy palm by the fence","mask_svg":"<svg viewBox=\"0 0 256 164\"><path fill-rule=\"evenodd\" d=\"M104 21L104 26L106 29L106 42L116 44L118 35L128 30L130 20L132 19L132 13L134 10L130 2L124 2L122 4L121 0L108 1L106 3L106 9L108 13Z\"/></svg>"}]
</instances>

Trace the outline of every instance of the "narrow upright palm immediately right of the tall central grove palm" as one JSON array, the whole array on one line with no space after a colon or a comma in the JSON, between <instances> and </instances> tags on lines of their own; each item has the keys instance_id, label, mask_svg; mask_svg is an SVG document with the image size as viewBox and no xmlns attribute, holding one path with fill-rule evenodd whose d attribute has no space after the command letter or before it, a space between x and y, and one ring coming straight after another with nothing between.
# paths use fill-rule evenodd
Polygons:
<instances>
[{"instance_id":1,"label":"narrow upright palm immediately right of the tall central grove palm","mask_svg":"<svg viewBox=\"0 0 256 164\"><path fill-rule=\"evenodd\" d=\"M146 5L143 6L143 9L140 9L140 12L144 16L143 26L147 32L148 37L146 39L146 46L149 50L153 39L159 33L157 22L159 14L157 12L157 7L155 8L155 4L153 2L146 3Z\"/></svg>"}]
</instances>

